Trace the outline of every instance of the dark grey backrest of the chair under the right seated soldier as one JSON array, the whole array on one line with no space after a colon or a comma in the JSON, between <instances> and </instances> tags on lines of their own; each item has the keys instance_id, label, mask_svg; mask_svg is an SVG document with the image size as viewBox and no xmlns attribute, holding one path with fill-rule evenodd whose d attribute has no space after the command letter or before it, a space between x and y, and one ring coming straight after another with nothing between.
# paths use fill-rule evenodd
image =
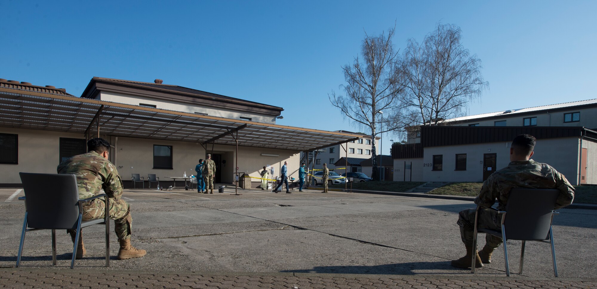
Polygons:
<instances>
[{"instance_id":1,"label":"dark grey backrest of the chair under the right seated soldier","mask_svg":"<svg viewBox=\"0 0 597 289\"><path fill-rule=\"evenodd\" d=\"M506 238L512 240L549 239L553 207L559 195L558 189L510 190L506 204Z\"/></svg>"}]
</instances>

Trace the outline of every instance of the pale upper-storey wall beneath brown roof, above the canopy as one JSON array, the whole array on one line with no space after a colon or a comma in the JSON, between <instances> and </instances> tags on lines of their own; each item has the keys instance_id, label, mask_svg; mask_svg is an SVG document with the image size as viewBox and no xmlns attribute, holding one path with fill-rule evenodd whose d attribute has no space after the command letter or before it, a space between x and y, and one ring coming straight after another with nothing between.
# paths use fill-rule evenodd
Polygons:
<instances>
[{"instance_id":1,"label":"pale upper-storey wall beneath brown roof, above the canopy","mask_svg":"<svg viewBox=\"0 0 597 289\"><path fill-rule=\"evenodd\" d=\"M276 123L276 117L271 115L257 114L252 112L248 113L242 112L240 110L223 109L221 107L214 108L210 106L199 106L189 103L176 102L174 100L152 99L151 97L133 96L130 94L102 91L99 99L106 100L107 102L127 103L133 105L139 105L139 103L153 104L158 109L169 109L186 113L200 112L207 113L211 116L220 116L223 118L240 119L242 116L245 118L251 118L251 121L265 122L267 124Z\"/></svg>"}]
</instances>

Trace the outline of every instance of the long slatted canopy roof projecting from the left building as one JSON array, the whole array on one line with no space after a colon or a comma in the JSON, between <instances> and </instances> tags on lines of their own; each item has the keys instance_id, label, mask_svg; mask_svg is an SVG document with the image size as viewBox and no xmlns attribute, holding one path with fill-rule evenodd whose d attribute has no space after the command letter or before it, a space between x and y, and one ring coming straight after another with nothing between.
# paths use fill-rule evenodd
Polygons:
<instances>
[{"instance_id":1,"label":"long slatted canopy roof projecting from the left building","mask_svg":"<svg viewBox=\"0 0 597 289\"><path fill-rule=\"evenodd\" d=\"M12 91L0 89L2 127L230 145L236 144L232 135L235 133L239 146L301 151L362 137L79 97Z\"/></svg>"}]
</instances>

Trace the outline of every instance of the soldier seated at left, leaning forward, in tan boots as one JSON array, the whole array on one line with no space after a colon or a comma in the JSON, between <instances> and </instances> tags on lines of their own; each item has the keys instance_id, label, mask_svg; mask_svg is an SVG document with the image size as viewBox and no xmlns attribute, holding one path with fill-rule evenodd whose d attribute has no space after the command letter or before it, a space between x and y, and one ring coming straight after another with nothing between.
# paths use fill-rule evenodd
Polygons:
<instances>
[{"instance_id":1,"label":"soldier seated at left, leaning forward, in tan boots","mask_svg":"<svg viewBox=\"0 0 597 289\"><path fill-rule=\"evenodd\" d=\"M110 143L101 138L91 139L87 142L88 153L76 155L64 160L57 168L59 174L75 174L79 187L79 199L106 193L110 198L109 214L114 220L114 230L120 250L118 259L143 257L145 250L139 250L131 245L131 210L126 201L121 199L122 181L116 167L108 161ZM103 198L94 199L83 204L83 220L101 219L104 217L106 202ZM76 230L68 230L75 242ZM85 253L83 235L80 234L76 258L82 258Z\"/></svg>"}]
</instances>

